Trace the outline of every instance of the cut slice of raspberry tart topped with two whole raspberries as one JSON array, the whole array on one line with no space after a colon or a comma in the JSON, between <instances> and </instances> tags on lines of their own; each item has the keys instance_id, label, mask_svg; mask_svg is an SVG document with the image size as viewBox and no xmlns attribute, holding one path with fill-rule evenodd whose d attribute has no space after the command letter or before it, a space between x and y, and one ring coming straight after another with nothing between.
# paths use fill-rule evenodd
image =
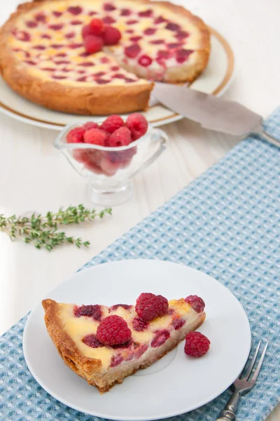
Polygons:
<instances>
[{"instance_id":1,"label":"cut slice of raspberry tart topped with two whole raspberries","mask_svg":"<svg viewBox=\"0 0 280 421\"><path fill-rule=\"evenodd\" d=\"M174 349L205 319L194 295L167 301L142 293L136 305L74 305L43 300L45 325L64 363L99 392Z\"/></svg>"}]
</instances>

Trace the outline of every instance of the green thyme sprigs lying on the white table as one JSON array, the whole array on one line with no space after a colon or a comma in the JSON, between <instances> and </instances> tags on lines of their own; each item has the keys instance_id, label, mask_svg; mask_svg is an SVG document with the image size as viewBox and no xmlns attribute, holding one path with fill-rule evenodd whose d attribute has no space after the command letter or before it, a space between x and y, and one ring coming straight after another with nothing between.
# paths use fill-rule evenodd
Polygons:
<instances>
[{"instance_id":1,"label":"green thyme sprigs lying on the white table","mask_svg":"<svg viewBox=\"0 0 280 421\"><path fill-rule=\"evenodd\" d=\"M46 215L33 213L29 218L16 215L7 218L0 214L0 231L6 232L12 241L23 239L27 244L32 243L36 248L46 248L48 251L64 243L75 244L78 248L88 247L90 241L67 236L65 232L59 231L59 226L92 222L95 218L111 215L111 211L111 208L106 208L97 212L80 204L66 209L59 208L57 213L48 212Z\"/></svg>"}]
</instances>

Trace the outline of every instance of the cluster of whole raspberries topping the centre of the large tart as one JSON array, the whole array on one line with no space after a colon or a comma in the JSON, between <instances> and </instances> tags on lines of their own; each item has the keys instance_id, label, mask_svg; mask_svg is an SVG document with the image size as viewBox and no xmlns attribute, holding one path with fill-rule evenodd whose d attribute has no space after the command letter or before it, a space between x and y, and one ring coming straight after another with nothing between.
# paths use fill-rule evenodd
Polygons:
<instances>
[{"instance_id":1,"label":"cluster of whole raspberries topping the centre of the large tart","mask_svg":"<svg viewBox=\"0 0 280 421\"><path fill-rule=\"evenodd\" d=\"M82 36L89 54L101 51L103 46L114 46L121 38L118 28L105 25L101 19L92 19L89 25L85 25Z\"/></svg>"}]
</instances>

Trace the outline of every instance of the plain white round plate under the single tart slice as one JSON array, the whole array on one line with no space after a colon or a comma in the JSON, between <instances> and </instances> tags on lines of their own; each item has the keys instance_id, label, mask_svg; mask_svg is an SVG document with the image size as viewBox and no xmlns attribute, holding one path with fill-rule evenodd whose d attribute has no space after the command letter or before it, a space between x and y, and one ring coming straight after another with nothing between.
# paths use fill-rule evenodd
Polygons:
<instances>
[{"instance_id":1,"label":"plain white round plate under the single tart slice","mask_svg":"<svg viewBox=\"0 0 280 421\"><path fill-rule=\"evenodd\" d=\"M71 408L121 421L186 413L227 389L246 362L251 330L237 298L203 272L161 260L121 260L78 272L47 298L85 305L131 304L142 292L160 293L168 299L200 295L207 312L200 332L211 341L209 352L192 359L184 354L181 342L153 366L102 395L64 364L48 336L40 303L31 312L23 335L25 359L37 382Z\"/></svg>"}]
</instances>

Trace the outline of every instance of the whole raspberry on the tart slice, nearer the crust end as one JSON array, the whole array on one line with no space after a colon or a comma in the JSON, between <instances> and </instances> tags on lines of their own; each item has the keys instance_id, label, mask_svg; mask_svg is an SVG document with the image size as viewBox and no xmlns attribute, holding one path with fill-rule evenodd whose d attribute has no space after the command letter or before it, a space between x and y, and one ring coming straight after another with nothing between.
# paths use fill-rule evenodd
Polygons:
<instances>
[{"instance_id":1,"label":"whole raspberry on the tart slice, nearer the crust end","mask_svg":"<svg viewBox=\"0 0 280 421\"><path fill-rule=\"evenodd\" d=\"M97 339L104 345L121 345L132 336L127 322L120 316L105 317L97 328Z\"/></svg>"}]
</instances>

